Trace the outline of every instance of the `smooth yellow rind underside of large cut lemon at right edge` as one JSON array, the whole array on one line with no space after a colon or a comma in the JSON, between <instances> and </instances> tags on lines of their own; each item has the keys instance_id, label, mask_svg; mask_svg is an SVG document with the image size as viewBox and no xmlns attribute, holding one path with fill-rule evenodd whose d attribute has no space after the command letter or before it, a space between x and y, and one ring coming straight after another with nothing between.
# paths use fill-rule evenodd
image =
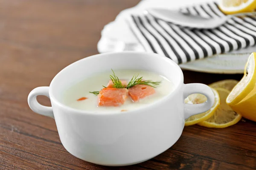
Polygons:
<instances>
[{"instance_id":1,"label":"smooth yellow rind underside of large cut lemon at right edge","mask_svg":"<svg viewBox=\"0 0 256 170\"><path fill-rule=\"evenodd\" d=\"M234 106L230 106L236 113L241 114L244 118L256 122L256 85L253 90Z\"/></svg>"}]
</instances>

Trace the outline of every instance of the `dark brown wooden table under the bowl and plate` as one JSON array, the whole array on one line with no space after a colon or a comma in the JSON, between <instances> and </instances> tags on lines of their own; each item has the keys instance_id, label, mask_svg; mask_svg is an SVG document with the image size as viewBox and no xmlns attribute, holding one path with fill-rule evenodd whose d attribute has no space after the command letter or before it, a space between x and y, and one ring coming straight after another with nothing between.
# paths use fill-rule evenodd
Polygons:
<instances>
[{"instance_id":1,"label":"dark brown wooden table under the bowl and plate","mask_svg":"<svg viewBox=\"0 0 256 170\"><path fill-rule=\"evenodd\" d=\"M54 119L29 109L27 96L48 86L62 68L97 54L100 31L139 0L0 0L0 169L136 170L256 169L256 123L225 129L185 127L166 152L127 167L104 167L72 156ZM242 75L184 71L185 83L241 79ZM39 102L50 105L47 97Z\"/></svg>"}]
</instances>

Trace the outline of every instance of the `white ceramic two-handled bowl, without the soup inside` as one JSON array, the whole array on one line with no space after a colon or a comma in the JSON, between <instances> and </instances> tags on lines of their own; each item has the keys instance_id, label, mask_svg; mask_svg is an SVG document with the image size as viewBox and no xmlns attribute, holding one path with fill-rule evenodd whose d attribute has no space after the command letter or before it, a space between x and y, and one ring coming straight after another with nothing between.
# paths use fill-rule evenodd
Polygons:
<instances>
[{"instance_id":1,"label":"white ceramic two-handled bowl, without the soup inside","mask_svg":"<svg viewBox=\"0 0 256 170\"><path fill-rule=\"evenodd\" d=\"M170 79L174 91L153 104L122 113L98 113L67 107L61 102L65 89L96 73L110 69L143 69ZM201 93L207 102L184 104L190 94ZM40 105L45 95L52 107ZM214 94L207 85L183 84L183 73L171 59L158 54L105 53L81 59L60 71L49 87L38 87L28 96L36 113L55 119L61 143L72 155L95 164L137 164L157 156L179 139L189 116L212 107Z\"/></svg>"}]
</instances>

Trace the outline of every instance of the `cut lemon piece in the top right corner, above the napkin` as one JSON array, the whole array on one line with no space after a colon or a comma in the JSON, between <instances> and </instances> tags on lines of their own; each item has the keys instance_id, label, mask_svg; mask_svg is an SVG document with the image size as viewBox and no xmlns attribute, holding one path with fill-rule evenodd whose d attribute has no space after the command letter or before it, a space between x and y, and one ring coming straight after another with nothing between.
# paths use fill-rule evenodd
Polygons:
<instances>
[{"instance_id":1,"label":"cut lemon piece in the top right corner, above the napkin","mask_svg":"<svg viewBox=\"0 0 256 170\"><path fill-rule=\"evenodd\" d=\"M256 0L221 0L219 8L225 14L252 12L256 9Z\"/></svg>"}]
</instances>

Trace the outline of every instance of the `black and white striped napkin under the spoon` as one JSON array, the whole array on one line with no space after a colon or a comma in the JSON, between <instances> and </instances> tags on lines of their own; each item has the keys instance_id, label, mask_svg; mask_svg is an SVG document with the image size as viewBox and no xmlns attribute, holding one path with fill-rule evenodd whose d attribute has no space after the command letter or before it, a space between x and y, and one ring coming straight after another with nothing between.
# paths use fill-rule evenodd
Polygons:
<instances>
[{"instance_id":1,"label":"black and white striped napkin under the spoon","mask_svg":"<svg viewBox=\"0 0 256 170\"><path fill-rule=\"evenodd\" d=\"M180 11L206 18L225 15L215 2L181 8ZM150 14L132 14L128 21L145 51L162 54L177 64L246 48L256 43L254 16L233 17L214 29L181 27Z\"/></svg>"}]
</instances>

